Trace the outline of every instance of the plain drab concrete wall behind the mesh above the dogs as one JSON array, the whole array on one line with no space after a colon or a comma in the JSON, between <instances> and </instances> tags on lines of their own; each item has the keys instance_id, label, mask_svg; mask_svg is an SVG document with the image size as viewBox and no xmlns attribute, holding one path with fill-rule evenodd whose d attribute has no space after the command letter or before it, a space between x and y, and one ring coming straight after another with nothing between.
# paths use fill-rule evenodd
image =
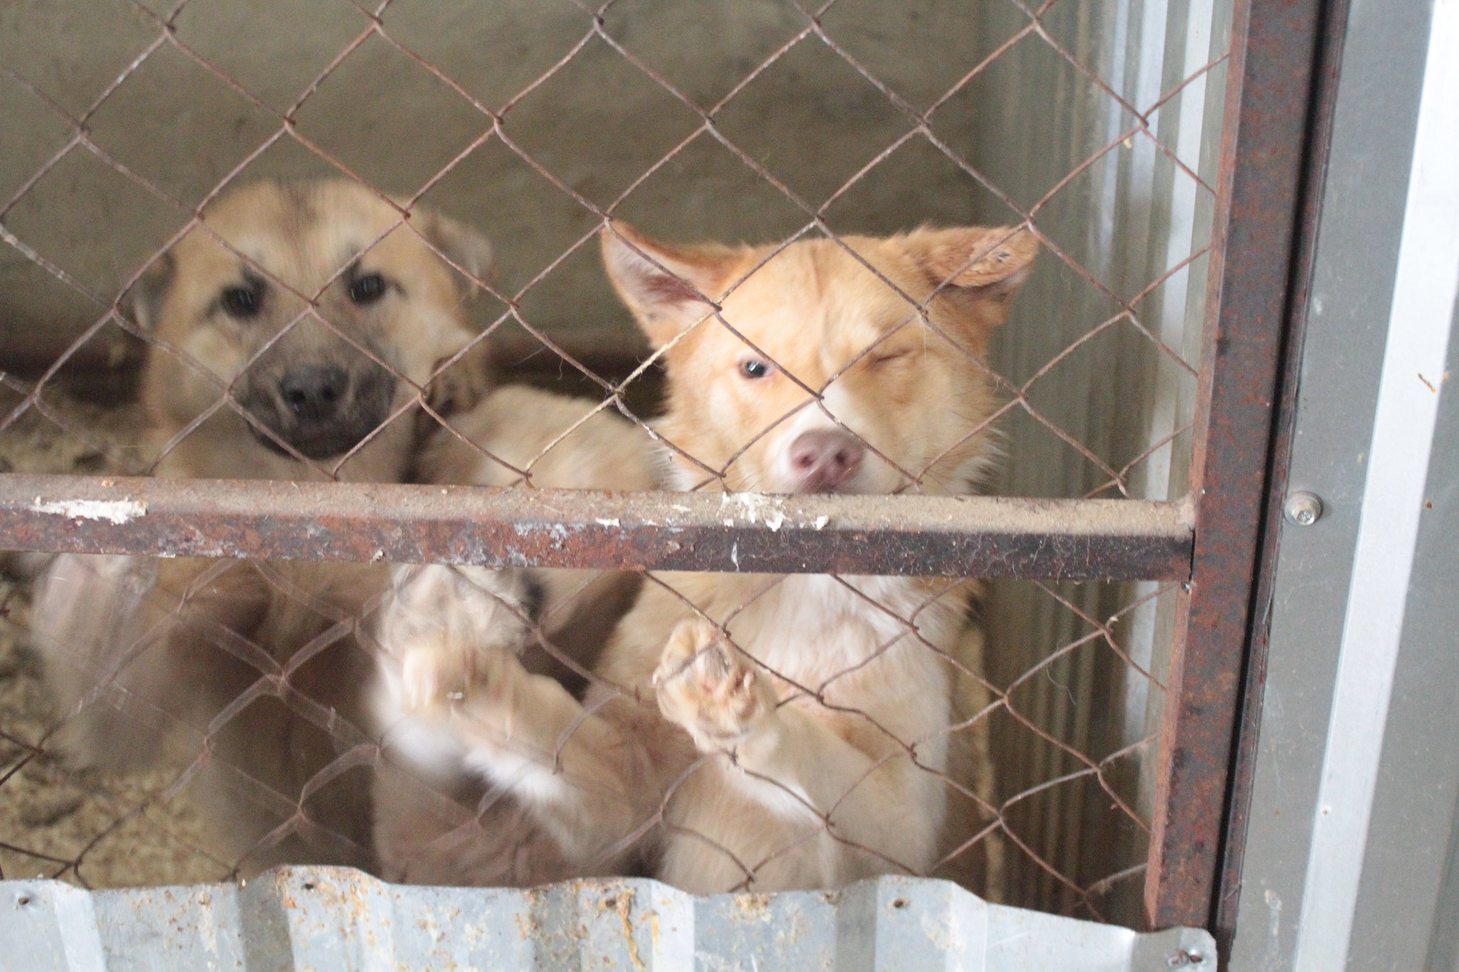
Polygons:
<instances>
[{"instance_id":1,"label":"plain drab concrete wall behind the mesh above the dogs","mask_svg":"<svg viewBox=\"0 0 1459 972\"><path fill-rule=\"evenodd\" d=\"M88 119L90 136L118 163L193 205L280 130L274 112L287 112L368 23L344 0L188 4L177 16L178 39L260 103L163 45ZM601 38L587 38L592 19L566 0L401 0L387 9L384 23L470 98L503 112L506 136L562 182L553 185L493 136L425 195L490 235L500 254L500 283L511 293L600 224L573 194L680 239L765 240L808 222L804 210L708 134L649 173L702 119ZM782 0L641 0L613 7L604 26L684 98L708 108L805 23ZM833 36L919 106L972 67L975 26L963 6L938 0L852 0L826 17ZM155 22L118 0L0 3L0 63L73 115L85 112L158 34ZM537 85L573 50L566 66ZM941 134L966 149L973 115L966 99L950 106ZM0 131L0 198L9 200L66 144L69 127L3 74L0 117L7 118ZM346 57L295 118L299 140L282 138L239 178L331 172L302 144L306 140L371 184L414 194L492 124L467 96L381 38ZM826 203L910 127L816 39L743 87L715 124L811 207ZM827 210L827 219L846 230L956 223L975 216L978 198L967 176L922 143L858 184ZM177 207L76 149L4 216L4 224L77 283L111 297L184 219ZM579 341L604 331L617 337L629 326L592 248L568 256L533 287L522 313ZM96 316L85 297L15 249L0 249L0 324L12 334L74 334Z\"/></svg>"}]
</instances>

